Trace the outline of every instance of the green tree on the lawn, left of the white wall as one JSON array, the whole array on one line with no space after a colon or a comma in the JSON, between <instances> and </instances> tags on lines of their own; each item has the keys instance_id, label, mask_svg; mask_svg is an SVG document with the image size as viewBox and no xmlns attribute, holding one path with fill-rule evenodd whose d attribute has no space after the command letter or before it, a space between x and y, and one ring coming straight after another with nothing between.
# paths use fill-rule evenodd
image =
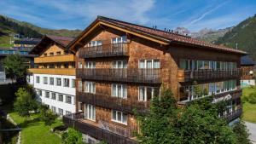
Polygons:
<instances>
[{"instance_id":1,"label":"green tree on the lawn, left of the white wall","mask_svg":"<svg viewBox=\"0 0 256 144\"><path fill-rule=\"evenodd\" d=\"M27 88L20 88L15 93L17 96L14 107L15 112L21 117L30 117L31 111L36 111L38 109L38 102L33 99L32 93Z\"/></svg>"}]
</instances>

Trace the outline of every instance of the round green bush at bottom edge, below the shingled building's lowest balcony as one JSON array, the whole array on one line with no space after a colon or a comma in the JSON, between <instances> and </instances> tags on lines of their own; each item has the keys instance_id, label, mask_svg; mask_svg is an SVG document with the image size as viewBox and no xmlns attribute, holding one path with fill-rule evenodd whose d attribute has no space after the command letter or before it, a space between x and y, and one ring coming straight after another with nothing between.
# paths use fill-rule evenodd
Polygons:
<instances>
[{"instance_id":1,"label":"round green bush at bottom edge, below the shingled building's lowest balcony","mask_svg":"<svg viewBox=\"0 0 256 144\"><path fill-rule=\"evenodd\" d=\"M82 133L73 128L68 128L67 132L61 135L64 144L84 144Z\"/></svg>"}]
</instances>

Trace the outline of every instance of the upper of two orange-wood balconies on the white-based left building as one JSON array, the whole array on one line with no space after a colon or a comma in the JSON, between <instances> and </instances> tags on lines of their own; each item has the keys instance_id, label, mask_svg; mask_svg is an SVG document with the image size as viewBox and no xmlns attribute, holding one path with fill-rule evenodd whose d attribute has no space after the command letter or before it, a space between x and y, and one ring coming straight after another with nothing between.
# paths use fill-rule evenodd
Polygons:
<instances>
[{"instance_id":1,"label":"upper of two orange-wood balconies on the white-based left building","mask_svg":"<svg viewBox=\"0 0 256 144\"><path fill-rule=\"evenodd\" d=\"M35 63L50 63L50 62L68 62L75 61L75 55L55 55L55 56L46 56L46 57L37 57L35 58Z\"/></svg>"}]
</instances>

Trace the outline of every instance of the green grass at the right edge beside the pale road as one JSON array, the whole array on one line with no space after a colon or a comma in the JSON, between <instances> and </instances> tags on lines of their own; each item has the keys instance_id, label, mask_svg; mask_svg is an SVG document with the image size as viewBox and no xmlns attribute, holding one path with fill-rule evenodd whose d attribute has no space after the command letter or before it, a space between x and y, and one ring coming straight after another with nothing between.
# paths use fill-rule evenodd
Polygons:
<instances>
[{"instance_id":1,"label":"green grass at the right edge beside the pale road","mask_svg":"<svg viewBox=\"0 0 256 144\"><path fill-rule=\"evenodd\" d=\"M251 93L256 92L255 88L242 89L242 96L248 96ZM256 123L256 104L250 104L249 102L243 103L243 117L242 119L247 122Z\"/></svg>"}]
</instances>

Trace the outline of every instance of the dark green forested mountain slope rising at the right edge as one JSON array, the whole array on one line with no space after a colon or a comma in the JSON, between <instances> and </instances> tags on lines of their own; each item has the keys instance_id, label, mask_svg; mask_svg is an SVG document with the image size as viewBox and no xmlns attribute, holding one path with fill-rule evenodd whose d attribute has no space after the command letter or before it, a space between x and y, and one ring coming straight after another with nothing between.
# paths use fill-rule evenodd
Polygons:
<instances>
[{"instance_id":1,"label":"dark green forested mountain slope rising at the right edge","mask_svg":"<svg viewBox=\"0 0 256 144\"><path fill-rule=\"evenodd\" d=\"M256 60L256 14L241 21L215 43L247 51L250 57Z\"/></svg>"}]
</instances>

